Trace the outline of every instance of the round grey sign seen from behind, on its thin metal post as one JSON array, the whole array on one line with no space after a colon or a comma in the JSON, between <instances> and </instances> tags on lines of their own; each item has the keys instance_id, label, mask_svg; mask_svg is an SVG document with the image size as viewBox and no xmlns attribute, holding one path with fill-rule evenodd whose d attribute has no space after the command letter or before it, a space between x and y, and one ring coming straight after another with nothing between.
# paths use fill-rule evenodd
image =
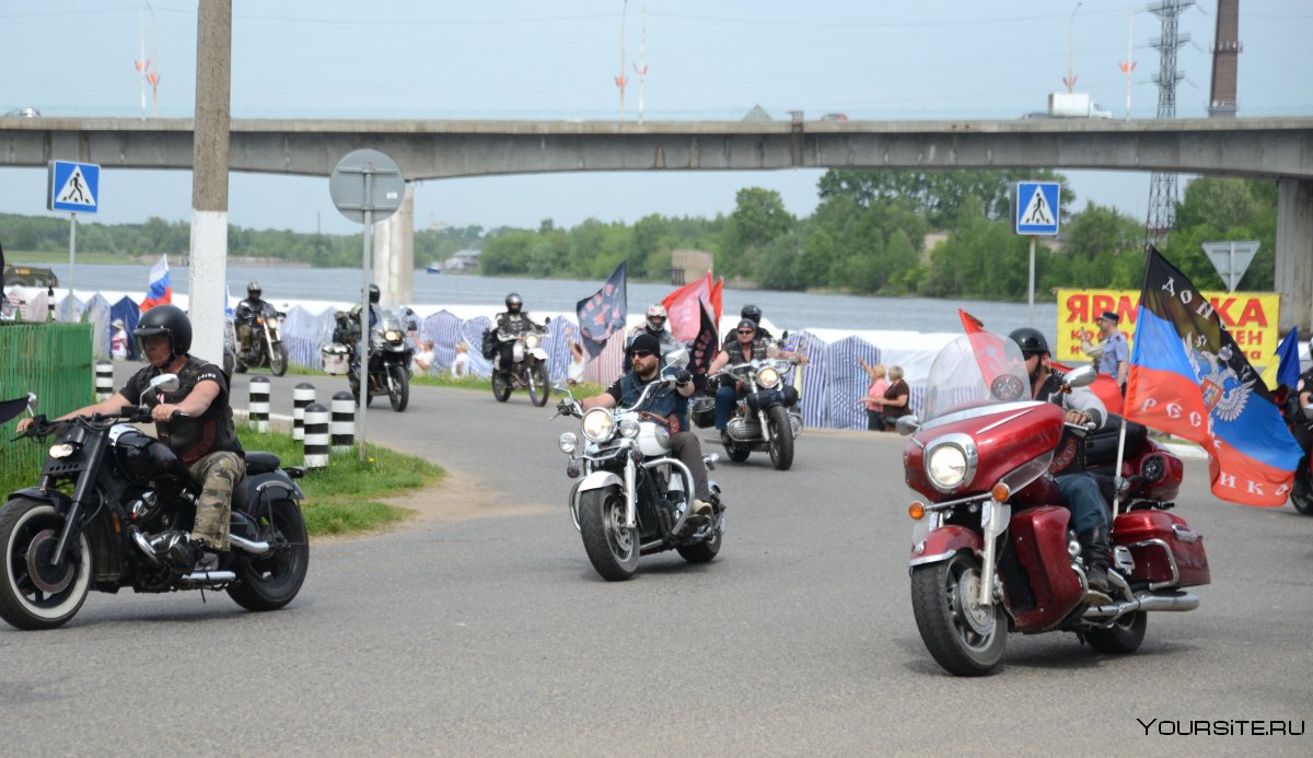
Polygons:
<instances>
[{"instance_id":1,"label":"round grey sign seen from behind, on its thin metal post","mask_svg":"<svg viewBox=\"0 0 1313 758\"><path fill-rule=\"evenodd\" d=\"M365 462L365 408L369 405L369 273L373 268L374 224L386 220L406 197L406 178L391 157L377 150L357 150L343 156L328 177L328 194L349 220L365 224L365 254L361 266L360 342L356 359L360 366L360 412L356 413L356 442L360 462Z\"/></svg>"}]
</instances>

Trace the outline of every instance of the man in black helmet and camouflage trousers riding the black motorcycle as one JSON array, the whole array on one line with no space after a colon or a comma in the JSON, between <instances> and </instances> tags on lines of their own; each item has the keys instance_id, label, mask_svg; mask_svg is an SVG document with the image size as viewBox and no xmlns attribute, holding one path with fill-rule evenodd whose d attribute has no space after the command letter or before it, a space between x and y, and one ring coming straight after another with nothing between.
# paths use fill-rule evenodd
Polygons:
<instances>
[{"instance_id":1,"label":"man in black helmet and camouflage trousers riding the black motorcycle","mask_svg":"<svg viewBox=\"0 0 1313 758\"><path fill-rule=\"evenodd\" d=\"M217 563L215 553L228 549L232 488L246 475L246 459L228 404L228 383L218 366L188 353L192 321L177 306L155 306L147 311L133 336L150 366L133 374L116 395L59 418L117 413L125 405L135 405L155 376L177 374L180 386L175 392L147 393L140 401L151 409L160 441L186 464L201 487L190 547L201 559L197 568L207 568ZM175 413L184 416L173 418ZM32 424L32 418L24 418L18 431Z\"/></svg>"}]
</instances>

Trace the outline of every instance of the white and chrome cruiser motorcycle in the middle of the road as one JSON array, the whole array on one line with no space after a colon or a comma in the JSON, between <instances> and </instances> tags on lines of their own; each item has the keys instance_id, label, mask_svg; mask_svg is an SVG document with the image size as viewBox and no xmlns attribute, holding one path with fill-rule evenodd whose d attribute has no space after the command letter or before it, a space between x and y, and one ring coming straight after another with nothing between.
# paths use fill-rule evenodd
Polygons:
<instances>
[{"instance_id":1,"label":"white and chrome cruiser motorcycle in the middle of the road","mask_svg":"<svg viewBox=\"0 0 1313 758\"><path fill-rule=\"evenodd\" d=\"M583 538L592 568L608 581L632 578L638 557L674 548L689 563L708 563L721 551L725 510L714 481L712 513L692 513L693 475L671 455L666 426L637 410L654 389L674 387L663 376L643 388L629 408L584 410L565 383L557 416L580 418L583 443L561 434L561 452L570 456L566 476L579 479L570 490L570 518ZM557 416L553 416L555 418ZM702 459L716 469L716 455Z\"/></svg>"}]
</instances>

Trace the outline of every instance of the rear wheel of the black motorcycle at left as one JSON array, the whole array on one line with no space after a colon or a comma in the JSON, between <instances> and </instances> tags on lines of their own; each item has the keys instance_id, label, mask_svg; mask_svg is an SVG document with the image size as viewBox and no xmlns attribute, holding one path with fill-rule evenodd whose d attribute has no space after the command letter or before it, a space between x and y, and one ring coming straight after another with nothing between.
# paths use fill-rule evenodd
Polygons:
<instances>
[{"instance_id":1,"label":"rear wheel of the black motorcycle at left","mask_svg":"<svg viewBox=\"0 0 1313 758\"><path fill-rule=\"evenodd\" d=\"M260 539L274 549L236 563L238 581L228 585L228 597L248 611L276 611L290 603L306 581L310 536L301 506L291 500L273 501L259 523Z\"/></svg>"}]
</instances>

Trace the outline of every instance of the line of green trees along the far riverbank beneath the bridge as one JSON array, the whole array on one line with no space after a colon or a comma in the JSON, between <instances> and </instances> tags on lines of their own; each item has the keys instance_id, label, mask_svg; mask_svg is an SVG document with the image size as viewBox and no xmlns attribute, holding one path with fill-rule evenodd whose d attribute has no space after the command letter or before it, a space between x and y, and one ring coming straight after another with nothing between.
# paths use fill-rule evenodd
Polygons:
<instances>
[{"instance_id":1,"label":"line of green trees along the far riverbank beneath the bridge","mask_svg":"<svg viewBox=\"0 0 1313 758\"><path fill-rule=\"evenodd\" d=\"M1018 181L1029 180L1064 184L1060 245L1041 244L1036 252L1039 291L1140 286L1144 220L1096 203L1073 211L1064 177L1044 170L830 170L818 182L815 211L805 218L789 214L779 193L746 188L733 212L713 219L654 214L634 224L588 219L561 228L546 219L536 229L421 229L415 262L478 248L486 275L600 279L628 261L635 279L664 281L674 250L700 249L714 254L717 274L765 289L1022 300L1029 240L1012 231L1012 193ZM77 248L125 257L186 254L189 235L190 224L158 218L80 224ZM1161 250L1199 287L1224 289L1200 247L1224 240L1262 244L1239 287L1272 290L1275 182L1205 177L1186 185L1176 227ZM0 214L0 241L14 252L58 252L67 248L68 222ZM228 228L232 256L312 266L357 266L361 244L360 235Z\"/></svg>"}]
</instances>

